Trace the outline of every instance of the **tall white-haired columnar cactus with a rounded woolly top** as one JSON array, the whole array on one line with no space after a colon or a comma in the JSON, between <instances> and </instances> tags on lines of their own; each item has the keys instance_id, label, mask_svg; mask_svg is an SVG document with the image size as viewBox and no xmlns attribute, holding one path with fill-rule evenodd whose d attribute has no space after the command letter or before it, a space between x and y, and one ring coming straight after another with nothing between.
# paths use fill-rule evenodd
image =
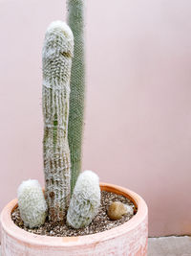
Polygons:
<instances>
[{"instance_id":1,"label":"tall white-haired columnar cactus with a rounded woolly top","mask_svg":"<svg viewBox=\"0 0 191 256\"><path fill-rule=\"evenodd\" d=\"M64 22L54 21L45 35L42 53L43 156L50 221L63 220L70 200L68 118L73 52L71 29Z\"/></svg>"}]
</instances>

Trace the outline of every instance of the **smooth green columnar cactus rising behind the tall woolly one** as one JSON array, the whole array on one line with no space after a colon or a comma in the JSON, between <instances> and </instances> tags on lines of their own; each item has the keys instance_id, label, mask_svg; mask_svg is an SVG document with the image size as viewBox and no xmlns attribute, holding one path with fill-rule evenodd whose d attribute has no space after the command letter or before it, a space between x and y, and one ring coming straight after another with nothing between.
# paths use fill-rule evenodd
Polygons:
<instances>
[{"instance_id":1,"label":"smooth green columnar cactus rising behind the tall woolly one","mask_svg":"<svg viewBox=\"0 0 191 256\"><path fill-rule=\"evenodd\" d=\"M69 114L69 148L71 151L71 191L81 172L84 126L85 57L84 57L84 0L67 0L68 25L74 34L74 58L71 73Z\"/></svg>"}]
</instances>

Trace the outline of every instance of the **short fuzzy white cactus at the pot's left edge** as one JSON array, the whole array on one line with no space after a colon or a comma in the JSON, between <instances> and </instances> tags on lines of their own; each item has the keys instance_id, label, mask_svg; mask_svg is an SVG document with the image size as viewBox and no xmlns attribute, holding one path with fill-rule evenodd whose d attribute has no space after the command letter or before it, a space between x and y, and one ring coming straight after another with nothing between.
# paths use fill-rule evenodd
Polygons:
<instances>
[{"instance_id":1,"label":"short fuzzy white cactus at the pot's left edge","mask_svg":"<svg viewBox=\"0 0 191 256\"><path fill-rule=\"evenodd\" d=\"M44 224L47 204L38 181L36 179L23 181L18 187L17 197L24 225L32 228Z\"/></svg>"}]
</instances>

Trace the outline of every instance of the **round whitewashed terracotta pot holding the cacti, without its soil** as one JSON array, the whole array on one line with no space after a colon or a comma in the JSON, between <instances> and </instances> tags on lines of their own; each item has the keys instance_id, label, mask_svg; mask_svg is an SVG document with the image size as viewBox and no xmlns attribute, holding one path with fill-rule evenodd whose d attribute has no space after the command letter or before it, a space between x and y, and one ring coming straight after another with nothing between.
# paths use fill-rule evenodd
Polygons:
<instances>
[{"instance_id":1,"label":"round whitewashed terracotta pot holding the cacti, without its soil","mask_svg":"<svg viewBox=\"0 0 191 256\"><path fill-rule=\"evenodd\" d=\"M17 199L1 213L1 256L143 256L147 255L148 210L138 194L116 185L101 183L101 190L130 198L137 214L122 225L94 235L48 237L27 232L11 221Z\"/></svg>"}]
</instances>

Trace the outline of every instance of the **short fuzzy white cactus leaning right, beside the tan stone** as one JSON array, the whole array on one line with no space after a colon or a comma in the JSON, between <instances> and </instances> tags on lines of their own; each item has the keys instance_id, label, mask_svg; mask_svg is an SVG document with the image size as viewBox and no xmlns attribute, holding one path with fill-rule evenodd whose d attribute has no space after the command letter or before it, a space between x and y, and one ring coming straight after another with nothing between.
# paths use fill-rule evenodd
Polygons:
<instances>
[{"instance_id":1,"label":"short fuzzy white cactus leaning right, beside the tan stone","mask_svg":"<svg viewBox=\"0 0 191 256\"><path fill-rule=\"evenodd\" d=\"M89 225L98 213L100 205L99 178L92 171L78 176L70 202L67 223L73 228Z\"/></svg>"}]
</instances>

